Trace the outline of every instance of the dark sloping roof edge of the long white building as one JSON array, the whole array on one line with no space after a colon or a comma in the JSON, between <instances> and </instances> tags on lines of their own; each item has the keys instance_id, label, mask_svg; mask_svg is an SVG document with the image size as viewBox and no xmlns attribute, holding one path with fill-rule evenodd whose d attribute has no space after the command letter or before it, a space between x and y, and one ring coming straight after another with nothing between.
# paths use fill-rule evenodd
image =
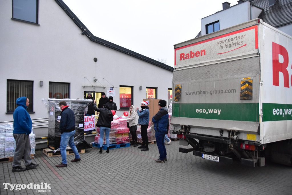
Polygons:
<instances>
[{"instance_id":1,"label":"dark sloping roof edge of the long white building","mask_svg":"<svg viewBox=\"0 0 292 195\"><path fill-rule=\"evenodd\" d=\"M159 61L156 61L152 58L148 58L146 56L143 56L141 54L138 54L134 51L131 51L129 49L126 49L124 47L121 47L119 45L116 45L114 43L111 43L109 41L106 41L104 39L101 39L99 37L95 37L87 28L86 26L79 20L79 18L77 18L77 16L69 9L69 7L64 3L64 1L62 0L55 0L57 2L57 4L65 11L65 13L67 13L67 15L74 21L74 23L80 28L82 34L86 35L91 41L96 42L98 44L107 46L109 48L112 48L114 50L120 51L124 54L127 54L129 56L138 58L140 60L143 60L145 62L154 64L156 66L159 66L161 68L164 68L166 70L169 70L171 72L173 72L174 68L171 66L168 66L164 63L161 63Z\"/></svg>"}]
</instances>

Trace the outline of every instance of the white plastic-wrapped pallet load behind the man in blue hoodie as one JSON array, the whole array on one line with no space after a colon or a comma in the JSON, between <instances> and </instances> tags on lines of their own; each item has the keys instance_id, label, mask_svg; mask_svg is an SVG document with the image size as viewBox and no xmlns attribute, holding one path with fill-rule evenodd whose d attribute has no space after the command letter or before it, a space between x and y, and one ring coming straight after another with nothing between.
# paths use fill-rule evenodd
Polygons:
<instances>
[{"instance_id":1,"label":"white plastic-wrapped pallet load behind the man in blue hoodie","mask_svg":"<svg viewBox=\"0 0 292 195\"><path fill-rule=\"evenodd\" d=\"M31 147L31 154L35 154L36 135L34 128L29 134L29 142ZM13 124L0 125L0 158L7 158L13 156L15 153L15 139L13 137Z\"/></svg>"}]
</instances>

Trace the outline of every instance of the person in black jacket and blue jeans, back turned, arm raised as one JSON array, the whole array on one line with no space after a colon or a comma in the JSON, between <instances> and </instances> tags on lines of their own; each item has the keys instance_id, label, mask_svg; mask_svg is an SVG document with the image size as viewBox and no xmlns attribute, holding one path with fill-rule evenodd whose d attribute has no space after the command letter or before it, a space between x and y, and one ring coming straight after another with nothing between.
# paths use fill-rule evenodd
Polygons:
<instances>
[{"instance_id":1,"label":"person in black jacket and blue jeans, back turned, arm raised","mask_svg":"<svg viewBox=\"0 0 292 195\"><path fill-rule=\"evenodd\" d=\"M107 142L107 153L109 153L109 131L113 120L112 111L110 111L109 107L104 104L103 108L96 108L96 103L94 100L93 104L94 110L100 112L98 116L98 120L96 126L99 127L100 134L99 134L99 144L100 144L100 151L102 153L102 144L103 144L103 134L105 133L105 140Z\"/></svg>"}]
</instances>

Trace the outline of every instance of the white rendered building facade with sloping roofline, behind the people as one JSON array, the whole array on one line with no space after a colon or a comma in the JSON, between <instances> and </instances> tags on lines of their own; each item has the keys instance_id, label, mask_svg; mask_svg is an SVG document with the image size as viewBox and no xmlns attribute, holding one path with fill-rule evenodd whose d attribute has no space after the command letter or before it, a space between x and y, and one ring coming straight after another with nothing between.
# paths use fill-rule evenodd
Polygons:
<instances>
[{"instance_id":1,"label":"white rendered building facade with sloping roofline, behind the people","mask_svg":"<svg viewBox=\"0 0 292 195\"><path fill-rule=\"evenodd\" d=\"M118 110L128 110L172 95L172 67L95 37L62 0L4 0L0 15L1 122L13 120L20 96L29 98L31 118L43 120L41 100L50 97L92 92L98 100L105 92ZM33 125L36 137L47 135L45 123Z\"/></svg>"}]
</instances>

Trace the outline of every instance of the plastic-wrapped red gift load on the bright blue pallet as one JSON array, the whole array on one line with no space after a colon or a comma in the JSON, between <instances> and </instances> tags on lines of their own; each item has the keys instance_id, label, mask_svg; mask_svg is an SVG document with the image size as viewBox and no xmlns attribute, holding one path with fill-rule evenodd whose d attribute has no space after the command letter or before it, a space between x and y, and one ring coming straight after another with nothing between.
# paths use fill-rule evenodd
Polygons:
<instances>
[{"instance_id":1,"label":"plastic-wrapped red gift load on the bright blue pallet","mask_svg":"<svg viewBox=\"0 0 292 195\"><path fill-rule=\"evenodd\" d=\"M95 136L95 143L99 143L100 129L96 127L96 132L98 133ZM105 142L105 136L103 136L103 144ZM129 128L127 127L127 119L114 119L111 122L111 129L109 132L109 144L124 144L129 143Z\"/></svg>"}]
</instances>

